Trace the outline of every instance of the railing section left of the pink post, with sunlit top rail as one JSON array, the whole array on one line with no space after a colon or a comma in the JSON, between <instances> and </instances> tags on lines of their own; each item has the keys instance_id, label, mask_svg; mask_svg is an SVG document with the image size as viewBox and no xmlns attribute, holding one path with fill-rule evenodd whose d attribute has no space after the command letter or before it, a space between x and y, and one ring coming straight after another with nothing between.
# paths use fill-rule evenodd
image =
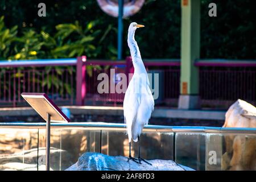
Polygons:
<instances>
[{"instance_id":1,"label":"railing section left of the pink post, with sunlit top rail","mask_svg":"<svg viewBox=\"0 0 256 182\"><path fill-rule=\"evenodd\" d=\"M0 61L0 105L22 106L22 92L46 92L59 104L74 104L76 59Z\"/></svg>"}]
</instances>

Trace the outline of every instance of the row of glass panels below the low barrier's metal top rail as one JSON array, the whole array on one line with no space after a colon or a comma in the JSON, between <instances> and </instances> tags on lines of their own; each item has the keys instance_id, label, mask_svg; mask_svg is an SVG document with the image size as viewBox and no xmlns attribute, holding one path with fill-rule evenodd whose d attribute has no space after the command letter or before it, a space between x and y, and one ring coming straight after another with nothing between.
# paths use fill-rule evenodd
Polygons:
<instances>
[{"instance_id":1,"label":"row of glass panels below the low barrier's metal top rail","mask_svg":"<svg viewBox=\"0 0 256 182\"><path fill-rule=\"evenodd\" d=\"M138 142L132 142L131 149L137 158ZM157 130L141 135L142 158L171 159L196 170L256 170L255 150L256 134L177 132L174 135ZM85 152L128 156L126 131L51 129L52 170L67 169ZM45 155L46 129L0 129L0 170L44 171Z\"/></svg>"}]
</instances>

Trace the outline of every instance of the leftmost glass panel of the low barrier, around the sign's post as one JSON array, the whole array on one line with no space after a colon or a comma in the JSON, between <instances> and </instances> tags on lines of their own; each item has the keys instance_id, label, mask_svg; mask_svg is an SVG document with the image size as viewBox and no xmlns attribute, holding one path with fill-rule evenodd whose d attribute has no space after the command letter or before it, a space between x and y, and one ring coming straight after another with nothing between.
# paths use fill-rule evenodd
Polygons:
<instances>
[{"instance_id":1,"label":"leftmost glass panel of the low barrier, around the sign's post","mask_svg":"<svg viewBox=\"0 0 256 182\"><path fill-rule=\"evenodd\" d=\"M0 129L0 170L37 170L38 129Z\"/></svg>"}]
</instances>

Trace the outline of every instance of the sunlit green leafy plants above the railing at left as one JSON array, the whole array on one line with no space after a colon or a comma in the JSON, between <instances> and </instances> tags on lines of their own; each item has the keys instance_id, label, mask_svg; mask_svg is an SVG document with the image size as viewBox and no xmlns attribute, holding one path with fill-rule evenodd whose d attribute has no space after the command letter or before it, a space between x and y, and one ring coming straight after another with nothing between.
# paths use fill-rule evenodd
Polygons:
<instances>
[{"instance_id":1,"label":"sunlit green leafy plants above the railing at left","mask_svg":"<svg viewBox=\"0 0 256 182\"><path fill-rule=\"evenodd\" d=\"M1 59L46 59L81 55L97 57L97 53L101 52L100 45L104 42L112 27L109 27L103 36L98 39L99 46L96 47L94 40L101 33L100 30L94 30L96 23L96 21L89 22L85 28L80 26L78 21L58 24L54 36L43 30L38 33L32 28L24 30L22 35L16 36L17 26L9 30L5 27L2 16L0 19ZM113 55L115 53L110 52Z\"/></svg>"}]
</instances>

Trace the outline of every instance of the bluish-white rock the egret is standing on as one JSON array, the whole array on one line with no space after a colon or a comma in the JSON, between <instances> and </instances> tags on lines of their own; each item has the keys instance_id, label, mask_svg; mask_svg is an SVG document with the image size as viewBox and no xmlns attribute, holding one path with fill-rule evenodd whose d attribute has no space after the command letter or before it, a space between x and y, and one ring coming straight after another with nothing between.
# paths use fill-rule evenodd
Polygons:
<instances>
[{"instance_id":1,"label":"bluish-white rock the egret is standing on","mask_svg":"<svg viewBox=\"0 0 256 182\"><path fill-rule=\"evenodd\" d=\"M147 160L149 163L127 162L124 156L109 156L100 153L87 152L80 156L77 163L66 171L194 171L189 167L176 164L172 160Z\"/></svg>"}]
</instances>

